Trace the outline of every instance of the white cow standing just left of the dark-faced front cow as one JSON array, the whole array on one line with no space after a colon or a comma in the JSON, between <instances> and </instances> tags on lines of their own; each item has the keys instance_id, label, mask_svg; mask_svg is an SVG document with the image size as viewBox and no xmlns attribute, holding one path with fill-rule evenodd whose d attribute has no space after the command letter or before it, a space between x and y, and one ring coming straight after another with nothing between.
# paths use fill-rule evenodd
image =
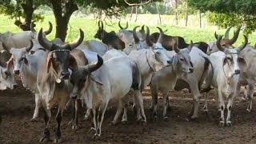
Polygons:
<instances>
[{"instance_id":1,"label":"white cow standing just left of the dark-faced front cow","mask_svg":"<svg viewBox=\"0 0 256 144\"><path fill-rule=\"evenodd\" d=\"M30 54L30 50L34 47L32 40L30 41L30 46L24 48L11 48L10 62L13 63L9 68L14 69L13 73L20 75L22 80L22 85L34 93L35 98L35 109L33 118L31 121L34 121L38 118L38 110L40 108L40 97L38 92L38 87L35 85L37 83L38 76L38 67L44 61L46 51L41 49L35 51L33 54Z\"/></svg>"}]
</instances>

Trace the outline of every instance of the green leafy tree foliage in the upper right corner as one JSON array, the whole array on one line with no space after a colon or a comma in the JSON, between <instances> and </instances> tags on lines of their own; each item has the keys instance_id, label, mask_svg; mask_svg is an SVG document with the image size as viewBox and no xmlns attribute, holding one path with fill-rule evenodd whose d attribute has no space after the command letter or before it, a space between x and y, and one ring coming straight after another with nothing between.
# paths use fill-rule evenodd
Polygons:
<instances>
[{"instance_id":1,"label":"green leafy tree foliage in the upper right corner","mask_svg":"<svg viewBox=\"0 0 256 144\"><path fill-rule=\"evenodd\" d=\"M246 34L256 30L256 1L252 0L190 0L192 6L202 12L210 11L210 22L226 28L227 26L246 26Z\"/></svg>"}]
</instances>

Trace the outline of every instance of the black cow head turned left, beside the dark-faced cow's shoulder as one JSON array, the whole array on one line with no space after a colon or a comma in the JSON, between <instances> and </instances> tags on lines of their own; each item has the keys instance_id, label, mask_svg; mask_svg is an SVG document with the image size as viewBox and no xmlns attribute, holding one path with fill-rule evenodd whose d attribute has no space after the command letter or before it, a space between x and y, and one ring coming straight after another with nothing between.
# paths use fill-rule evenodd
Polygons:
<instances>
[{"instance_id":1,"label":"black cow head turned left, beside the dark-faced cow's shoulder","mask_svg":"<svg viewBox=\"0 0 256 144\"><path fill-rule=\"evenodd\" d=\"M70 78L70 83L73 85L73 90L71 90L70 94L71 98L77 98L78 95L81 95L87 90L90 82L89 79L102 85L102 82L91 74L94 70L98 70L103 64L103 59L99 55L97 55L97 57L98 62L96 64L81 66L78 67L78 69L73 70Z\"/></svg>"}]
</instances>

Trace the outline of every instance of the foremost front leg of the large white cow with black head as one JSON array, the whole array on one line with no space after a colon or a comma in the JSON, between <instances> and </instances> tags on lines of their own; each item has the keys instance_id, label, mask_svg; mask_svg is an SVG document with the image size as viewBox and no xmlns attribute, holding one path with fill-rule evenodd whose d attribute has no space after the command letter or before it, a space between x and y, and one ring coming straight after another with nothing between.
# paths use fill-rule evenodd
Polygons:
<instances>
[{"instance_id":1,"label":"foremost front leg of the large white cow with black head","mask_svg":"<svg viewBox=\"0 0 256 144\"><path fill-rule=\"evenodd\" d=\"M94 134L94 139L96 137L100 137L102 134L102 122L104 119L104 114L106 112L106 107L107 107L108 102L102 102L101 106L98 109L98 118L97 118L97 129L96 133Z\"/></svg>"}]
</instances>

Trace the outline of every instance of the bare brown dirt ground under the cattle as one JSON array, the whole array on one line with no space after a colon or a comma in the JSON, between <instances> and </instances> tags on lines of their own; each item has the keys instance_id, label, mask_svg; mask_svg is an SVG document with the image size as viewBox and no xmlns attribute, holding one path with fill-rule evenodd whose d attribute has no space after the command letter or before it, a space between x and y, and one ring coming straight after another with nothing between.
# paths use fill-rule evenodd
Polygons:
<instances>
[{"instance_id":1,"label":"bare brown dirt ground under the cattle","mask_svg":"<svg viewBox=\"0 0 256 144\"><path fill-rule=\"evenodd\" d=\"M186 91L170 95L171 110L167 112L168 121L162 120L162 99L159 100L158 121L154 122L150 112L150 90L143 91L147 123L142 126L136 122L133 110L128 111L127 125L110 124L114 118L115 106L106 111L102 124L102 138L94 141L89 134L90 122L80 121L78 130L71 130L70 110L63 114L62 143L256 143L256 115L254 110L246 111L248 102L236 98L232 111L232 127L219 127L220 114L217 110L217 98L214 92L209 98L209 114L202 112L203 98L200 102L199 118L191 122L188 118L192 106L191 95ZM255 104L255 102L254 102ZM43 112L40 110L38 122L30 122L34 113L34 95L22 88L19 82L15 90L0 91L0 143L38 143L44 130ZM54 139L56 122L50 121L50 134ZM82 118L82 114L80 114ZM49 142L52 143L52 142Z\"/></svg>"}]
</instances>

